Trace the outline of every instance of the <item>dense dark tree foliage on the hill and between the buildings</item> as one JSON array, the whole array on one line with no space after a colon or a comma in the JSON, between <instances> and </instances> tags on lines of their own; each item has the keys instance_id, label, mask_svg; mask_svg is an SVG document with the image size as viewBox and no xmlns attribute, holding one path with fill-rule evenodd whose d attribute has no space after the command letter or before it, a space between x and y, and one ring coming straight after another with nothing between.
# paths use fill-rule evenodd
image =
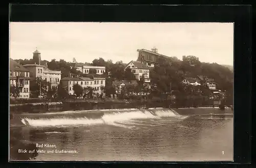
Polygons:
<instances>
[{"instance_id":1,"label":"dense dark tree foliage on the hill and between the buildings","mask_svg":"<svg viewBox=\"0 0 256 168\"><path fill-rule=\"evenodd\" d=\"M28 64L32 63L31 60L15 60L20 64ZM188 96L188 95L201 95L211 97L211 93L208 89L208 86L203 83L201 86L190 86L183 85L181 81L184 78L196 78L197 76L207 76L208 78L214 79L217 83L217 89L226 92L226 100L227 102L232 102L233 97L233 73L232 71L222 65L217 63L204 63L200 62L200 60L195 56L183 56L182 60L177 59L176 57L172 57L171 64L166 59L159 59L159 66L155 66L150 70L150 78L152 87L148 91L153 95L160 95L162 93L170 93L172 92L177 97ZM75 58L73 62L66 62L65 60L56 61L55 59L49 61L41 61L41 64L48 64L48 68L52 70L61 70L61 78L68 77L70 73L80 74L80 71L77 71L75 68L72 68L72 63L76 63ZM115 93L115 88L112 86L113 81L118 80L135 80L135 76L131 72L131 69L124 70L125 64L122 61L117 61L113 63L112 60L105 61L103 58L94 59L92 63L85 63L88 65L94 66L105 66L106 72L106 85L101 89L104 91L106 96ZM90 69L90 73L95 73L92 69ZM84 77L90 77L89 75L83 75ZM41 83L42 85L42 83ZM36 86L38 88L38 85ZM130 94L131 91L140 92L143 88L143 85L139 84L137 87L133 88L132 86L123 88L121 90L121 94ZM33 90L33 89L32 89ZM36 90L36 89L34 89ZM78 89L76 95L80 95L80 89ZM44 92L44 90L41 90ZM38 91L37 91L38 92ZM93 97L93 88L83 88L83 93L86 92L88 97ZM66 93L64 93L66 94ZM63 97L61 95L60 97Z\"/></svg>"}]
</instances>

